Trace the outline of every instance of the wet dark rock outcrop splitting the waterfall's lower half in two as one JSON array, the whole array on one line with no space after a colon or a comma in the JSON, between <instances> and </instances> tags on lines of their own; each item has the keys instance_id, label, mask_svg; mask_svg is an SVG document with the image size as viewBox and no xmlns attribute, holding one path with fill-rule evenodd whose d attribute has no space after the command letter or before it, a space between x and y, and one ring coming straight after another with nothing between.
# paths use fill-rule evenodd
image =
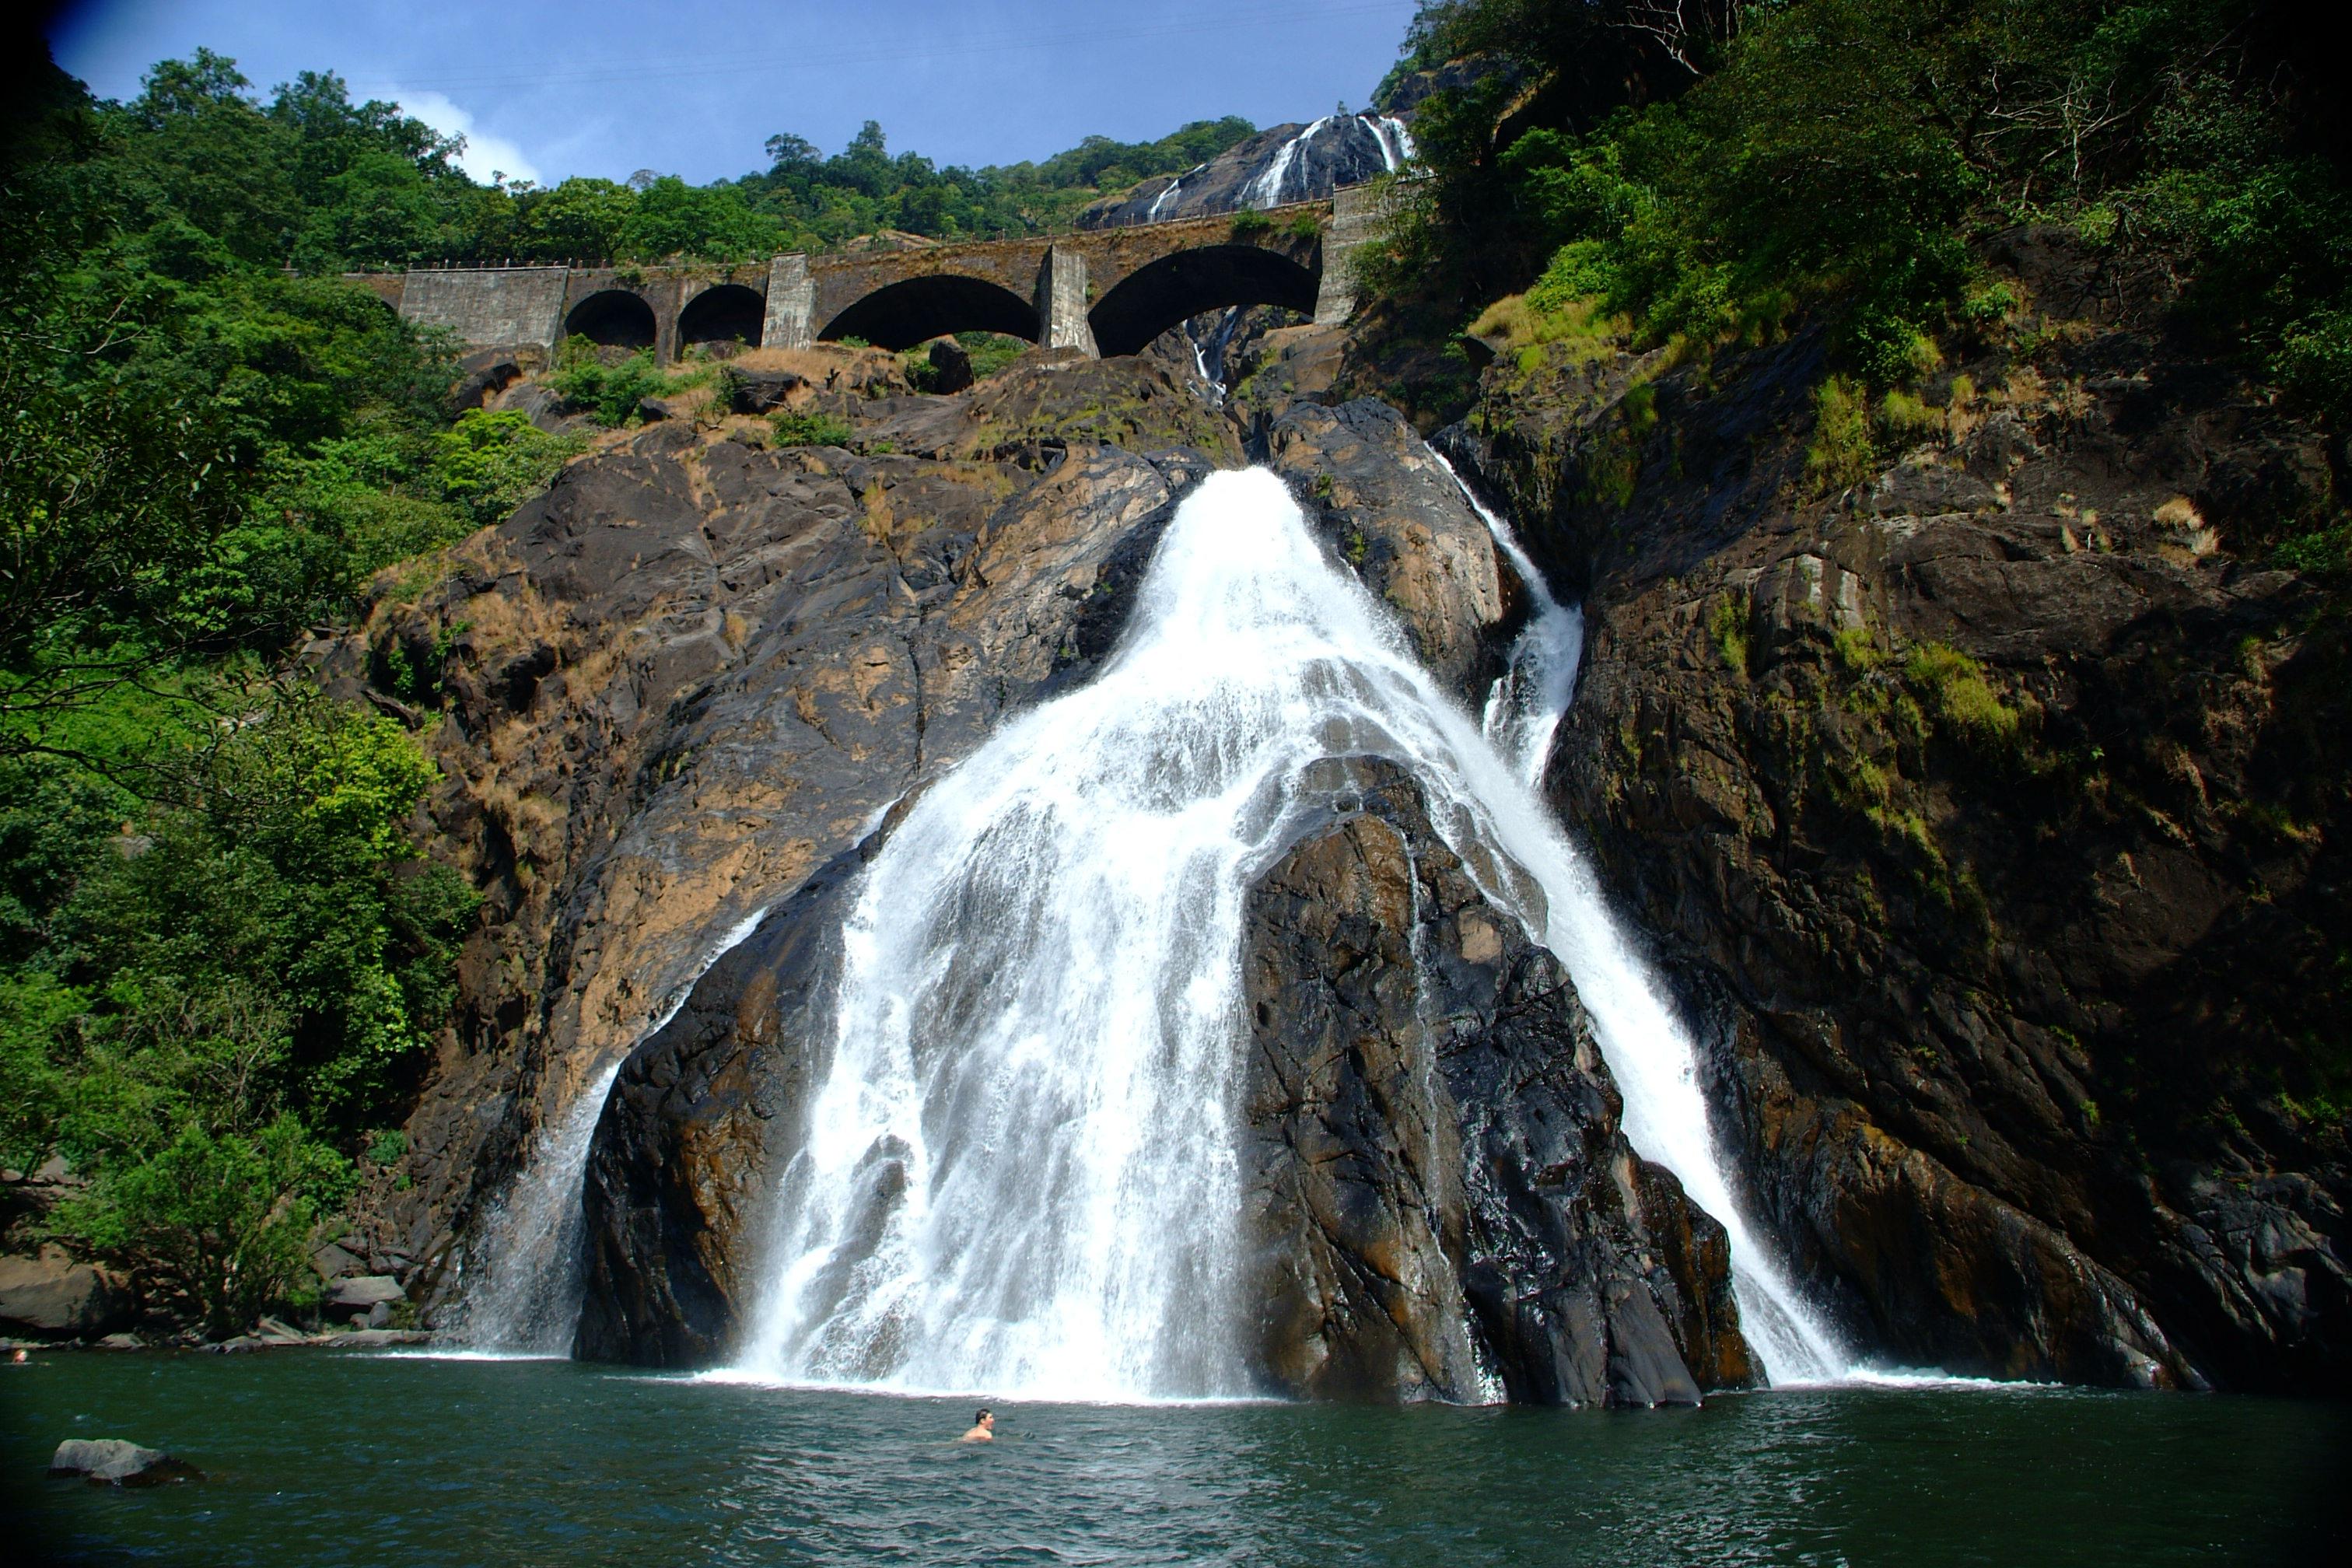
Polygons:
<instances>
[{"instance_id":1,"label":"wet dark rock outcrop splitting the waterfall's lower half in two","mask_svg":"<svg viewBox=\"0 0 2352 1568\"><path fill-rule=\"evenodd\" d=\"M1282 1394L1696 1403L1752 1380L1722 1227L1635 1157L1559 961L1388 762L1254 889L1249 1300ZM1496 1387L1498 1385L1498 1387Z\"/></svg>"}]
</instances>

